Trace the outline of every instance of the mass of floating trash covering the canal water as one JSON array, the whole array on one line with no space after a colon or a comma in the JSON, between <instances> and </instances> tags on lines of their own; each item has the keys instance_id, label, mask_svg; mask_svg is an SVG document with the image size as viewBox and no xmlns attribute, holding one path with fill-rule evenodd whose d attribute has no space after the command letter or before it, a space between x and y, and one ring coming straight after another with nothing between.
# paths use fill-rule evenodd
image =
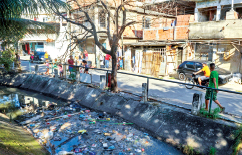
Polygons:
<instances>
[{"instance_id":1,"label":"mass of floating trash covering the canal water","mask_svg":"<svg viewBox=\"0 0 242 155\"><path fill-rule=\"evenodd\" d=\"M132 123L75 103L40 111L21 124L57 155L142 154L151 141L147 133L136 130Z\"/></svg>"}]
</instances>

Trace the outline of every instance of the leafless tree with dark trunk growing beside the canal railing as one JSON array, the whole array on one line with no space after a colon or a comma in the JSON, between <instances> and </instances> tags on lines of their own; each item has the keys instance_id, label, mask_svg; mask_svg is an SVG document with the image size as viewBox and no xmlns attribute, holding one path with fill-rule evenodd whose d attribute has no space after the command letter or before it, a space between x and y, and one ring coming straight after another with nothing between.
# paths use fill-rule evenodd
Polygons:
<instances>
[{"instance_id":1,"label":"leafless tree with dark trunk growing beside the canal railing","mask_svg":"<svg viewBox=\"0 0 242 155\"><path fill-rule=\"evenodd\" d=\"M86 40L87 38L93 37L95 45L100 48L100 50L106 54L111 55L112 57L112 73L111 73L111 90L114 92L118 91L117 85L117 49L119 40L125 28L134 24L136 21L132 21L130 19L126 19L127 16L127 8L131 7L131 1L120 0L120 2L113 1L112 4L104 3L102 0L99 1L89 1L87 3L84 0L70 0L68 3L72 6L72 12L78 12L79 16L70 16L69 18L63 16L58 9L55 9L57 15L62 16L67 22L74 24L76 26L84 29L84 33L82 34L81 42ZM97 25L93 20L93 16L95 13L95 7L101 7L105 16L107 17L107 25L106 30L98 31ZM87 26L85 23L89 23L90 26ZM113 31L111 31L111 26ZM105 48L102 43L99 41L99 34L106 34L110 49ZM79 39L80 40L80 39ZM80 43L80 41L76 41L76 43Z\"/></svg>"}]
</instances>

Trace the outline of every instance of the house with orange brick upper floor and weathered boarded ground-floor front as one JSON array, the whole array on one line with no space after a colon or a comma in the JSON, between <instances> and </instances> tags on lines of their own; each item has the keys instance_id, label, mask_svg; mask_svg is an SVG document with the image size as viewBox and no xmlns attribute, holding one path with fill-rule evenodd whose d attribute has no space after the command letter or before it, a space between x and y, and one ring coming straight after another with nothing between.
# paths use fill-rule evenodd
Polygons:
<instances>
[{"instance_id":1,"label":"house with orange brick upper floor and weathered boarded ground-floor front","mask_svg":"<svg viewBox=\"0 0 242 155\"><path fill-rule=\"evenodd\" d=\"M151 18L149 22L144 20L143 39L126 44L127 54L131 53L132 59L131 67L126 63L125 69L155 77L168 75L183 61L194 58L193 48L188 42L188 27L194 21L195 3L148 0L145 4L145 9L148 9L145 12L160 16ZM187 5L191 7L185 10Z\"/></svg>"}]
</instances>

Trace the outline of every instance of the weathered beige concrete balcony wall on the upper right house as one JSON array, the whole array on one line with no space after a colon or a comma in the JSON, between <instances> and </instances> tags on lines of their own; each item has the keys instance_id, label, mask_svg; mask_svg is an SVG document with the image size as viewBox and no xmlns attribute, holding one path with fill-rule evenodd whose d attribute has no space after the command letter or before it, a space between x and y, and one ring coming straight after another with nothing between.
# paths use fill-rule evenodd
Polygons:
<instances>
[{"instance_id":1,"label":"weathered beige concrete balcony wall on the upper right house","mask_svg":"<svg viewBox=\"0 0 242 155\"><path fill-rule=\"evenodd\" d=\"M189 39L242 38L242 20L223 20L190 23Z\"/></svg>"}]
</instances>

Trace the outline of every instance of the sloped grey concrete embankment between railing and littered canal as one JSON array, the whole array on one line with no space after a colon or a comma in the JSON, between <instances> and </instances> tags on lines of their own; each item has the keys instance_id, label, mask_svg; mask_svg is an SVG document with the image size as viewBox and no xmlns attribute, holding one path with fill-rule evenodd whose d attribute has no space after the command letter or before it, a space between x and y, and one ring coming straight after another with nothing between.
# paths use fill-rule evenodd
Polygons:
<instances>
[{"instance_id":1,"label":"sloped grey concrete embankment between railing and littered canal","mask_svg":"<svg viewBox=\"0 0 242 155\"><path fill-rule=\"evenodd\" d=\"M86 84L35 74L2 74L0 84L36 91L67 101L79 100L90 109L118 115L149 131L154 137L178 148L190 146L208 154L212 147L217 154L232 154L236 124L211 120L190 114L190 111L160 103L141 103L140 98L113 94Z\"/></svg>"}]
</instances>

